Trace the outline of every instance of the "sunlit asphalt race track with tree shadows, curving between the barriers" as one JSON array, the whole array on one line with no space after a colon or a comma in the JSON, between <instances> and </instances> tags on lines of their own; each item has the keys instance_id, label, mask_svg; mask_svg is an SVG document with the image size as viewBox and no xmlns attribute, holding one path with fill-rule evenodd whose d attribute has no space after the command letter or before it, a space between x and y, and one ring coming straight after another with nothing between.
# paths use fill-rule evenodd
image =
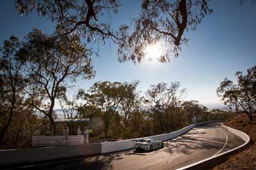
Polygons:
<instances>
[{"instance_id":1,"label":"sunlit asphalt race track with tree shadows, curving between the barriers","mask_svg":"<svg viewBox=\"0 0 256 170\"><path fill-rule=\"evenodd\" d=\"M107 153L76 160L65 160L26 166L26 169L177 169L218 153L225 152L244 141L221 128L220 124L195 127L178 138L164 142L164 148L153 152L133 150Z\"/></svg>"}]
</instances>

